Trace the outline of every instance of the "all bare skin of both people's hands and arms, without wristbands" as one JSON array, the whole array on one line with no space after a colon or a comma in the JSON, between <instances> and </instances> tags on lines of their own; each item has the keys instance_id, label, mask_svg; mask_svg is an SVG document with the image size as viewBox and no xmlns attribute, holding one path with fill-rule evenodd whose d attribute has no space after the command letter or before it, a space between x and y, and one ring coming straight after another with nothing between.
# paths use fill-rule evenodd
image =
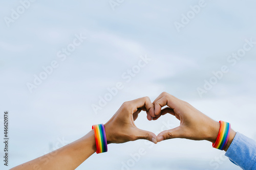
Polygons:
<instances>
[{"instance_id":1,"label":"all bare skin of both people's hands and arms, without wristbands","mask_svg":"<svg viewBox=\"0 0 256 170\"><path fill-rule=\"evenodd\" d=\"M162 109L162 107L167 106ZM163 131L156 136L154 133L138 129L134 121L141 111L146 111L148 120L157 120L160 116L169 113L180 120L180 126ZM220 124L212 120L199 110L181 101L166 92L161 93L152 103L148 97L124 102L113 117L104 125L106 139L109 143L124 143L137 139L146 139L154 143L172 138L186 138L191 140L208 140L215 142L219 133ZM227 151L236 132L230 131ZM29 162L11 168L12 170L46 170L66 169L73 170L83 161L96 152L94 131L65 145L58 150L33 159Z\"/></svg>"}]
</instances>

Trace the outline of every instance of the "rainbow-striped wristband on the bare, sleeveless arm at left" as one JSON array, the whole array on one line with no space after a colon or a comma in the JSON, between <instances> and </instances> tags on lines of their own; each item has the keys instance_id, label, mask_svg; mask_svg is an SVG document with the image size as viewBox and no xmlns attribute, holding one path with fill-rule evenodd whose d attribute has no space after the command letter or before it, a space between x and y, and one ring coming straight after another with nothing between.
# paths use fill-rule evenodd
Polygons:
<instances>
[{"instance_id":1,"label":"rainbow-striped wristband on the bare, sleeveless arm at left","mask_svg":"<svg viewBox=\"0 0 256 170\"><path fill-rule=\"evenodd\" d=\"M106 132L103 124L93 125L92 129L94 129L95 141L97 151L96 153L108 152L108 143L106 143Z\"/></svg>"}]
</instances>

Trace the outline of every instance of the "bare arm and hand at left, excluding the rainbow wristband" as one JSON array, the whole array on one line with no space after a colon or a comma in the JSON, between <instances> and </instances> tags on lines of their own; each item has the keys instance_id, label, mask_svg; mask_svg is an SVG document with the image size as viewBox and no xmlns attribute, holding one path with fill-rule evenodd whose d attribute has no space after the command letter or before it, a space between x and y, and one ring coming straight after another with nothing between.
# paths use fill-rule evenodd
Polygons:
<instances>
[{"instance_id":1,"label":"bare arm and hand at left, excluding the rainbow wristband","mask_svg":"<svg viewBox=\"0 0 256 170\"><path fill-rule=\"evenodd\" d=\"M157 143L157 136L154 133L138 129L134 124L134 120L136 120L141 110L146 111L147 115L154 114L154 105L149 98L140 98L134 101L125 102L114 116L104 125L107 142L123 143L137 139L147 139ZM95 152L95 136L94 131L91 130L82 138L67 144L56 151L11 169L71 170L75 169Z\"/></svg>"}]
</instances>

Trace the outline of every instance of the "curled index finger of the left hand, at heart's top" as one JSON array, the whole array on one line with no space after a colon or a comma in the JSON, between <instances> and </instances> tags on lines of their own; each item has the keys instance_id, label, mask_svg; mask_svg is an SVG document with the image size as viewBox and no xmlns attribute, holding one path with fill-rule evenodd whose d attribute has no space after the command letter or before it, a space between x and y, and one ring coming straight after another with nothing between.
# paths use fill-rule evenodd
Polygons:
<instances>
[{"instance_id":1,"label":"curled index finger of the left hand, at heart's top","mask_svg":"<svg viewBox=\"0 0 256 170\"><path fill-rule=\"evenodd\" d=\"M133 108L133 113L137 111L138 108L143 108L145 107L148 113L152 116L155 117L154 114L154 105L151 103L150 98L144 97L144 98L139 98L136 100L131 101L131 105L134 107Z\"/></svg>"}]
</instances>

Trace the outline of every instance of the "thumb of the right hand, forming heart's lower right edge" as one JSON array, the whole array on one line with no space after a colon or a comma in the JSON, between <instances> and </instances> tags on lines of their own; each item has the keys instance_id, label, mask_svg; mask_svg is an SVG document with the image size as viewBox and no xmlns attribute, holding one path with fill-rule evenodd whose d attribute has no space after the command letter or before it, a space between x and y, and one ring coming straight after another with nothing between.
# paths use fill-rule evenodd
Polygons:
<instances>
[{"instance_id":1,"label":"thumb of the right hand, forming heart's lower right edge","mask_svg":"<svg viewBox=\"0 0 256 170\"><path fill-rule=\"evenodd\" d=\"M163 131L157 135L157 141L160 142L166 139L181 138L182 131L180 127Z\"/></svg>"}]
</instances>

